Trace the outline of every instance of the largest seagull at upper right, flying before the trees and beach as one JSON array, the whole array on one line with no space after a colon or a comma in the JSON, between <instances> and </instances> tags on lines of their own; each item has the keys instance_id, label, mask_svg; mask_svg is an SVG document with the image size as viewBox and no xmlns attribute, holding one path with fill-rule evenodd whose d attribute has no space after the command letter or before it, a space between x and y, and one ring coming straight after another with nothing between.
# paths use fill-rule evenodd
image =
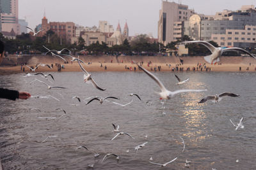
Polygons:
<instances>
[{"instance_id":1,"label":"largest seagull at upper right, flying before the trees and beach","mask_svg":"<svg viewBox=\"0 0 256 170\"><path fill-rule=\"evenodd\" d=\"M250 55L251 57L256 59L256 57L253 56L252 53L244 50L243 48L238 48L238 47L228 47L228 48L215 47L207 41L184 41L182 43L184 43L184 44L186 44L186 43L199 43L200 45L206 46L211 51L212 54L208 55L208 56L205 56L204 59L207 62L209 62L210 64L219 62L220 61L220 56L222 55L222 53L230 51L230 50L237 50L237 51L240 51L240 52L247 53L248 55Z\"/></svg>"}]
</instances>

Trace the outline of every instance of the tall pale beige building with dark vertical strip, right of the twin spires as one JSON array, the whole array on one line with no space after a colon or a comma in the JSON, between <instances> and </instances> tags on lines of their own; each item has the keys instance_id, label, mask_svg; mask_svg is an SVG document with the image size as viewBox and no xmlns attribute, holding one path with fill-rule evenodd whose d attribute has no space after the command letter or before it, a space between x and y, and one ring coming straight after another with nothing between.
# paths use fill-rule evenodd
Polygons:
<instances>
[{"instance_id":1,"label":"tall pale beige building with dark vertical strip, right of the twin spires","mask_svg":"<svg viewBox=\"0 0 256 170\"><path fill-rule=\"evenodd\" d=\"M176 41L173 36L174 23L189 20L194 13L194 10L189 10L187 5L162 1L162 8L159 11L158 41L164 45Z\"/></svg>"}]
</instances>

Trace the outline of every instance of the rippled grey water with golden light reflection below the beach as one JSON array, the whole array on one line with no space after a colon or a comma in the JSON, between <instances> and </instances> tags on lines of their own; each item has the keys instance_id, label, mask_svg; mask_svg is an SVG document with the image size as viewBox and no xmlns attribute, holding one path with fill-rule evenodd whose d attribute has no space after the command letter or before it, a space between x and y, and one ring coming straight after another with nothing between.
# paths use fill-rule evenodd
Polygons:
<instances>
[{"instance_id":1,"label":"rippled grey water with golden light reflection below the beach","mask_svg":"<svg viewBox=\"0 0 256 170\"><path fill-rule=\"evenodd\" d=\"M189 77L184 85L175 84L174 73L154 73L169 90L208 90L177 95L166 101L164 109L154 93L159 87L145 73L93 73L95 81L107 89L104 92L84 83L81 72L52 74L56 79L54 85L67 89L49 90L39 82L29 85L26 81L35 77L24 78L23 74L0 77L0 87L28 91L33 96L52 95L61 100L0 99L0 154L4 169L86 169L92 163L94 169L163 169L150 164L150 157L158 163L178 157L167 169L186 169L186 159L191 160L189 169L256 169L255 73L177 73L181 79ZM218 104L197 103L206 95L225 91L241 96L225 97ZM143 102L127 96L129 93L139 94ZM73 96L115 96L120 97L118 103L131 99L134 102L124 108L96 101L86 106ZM152 106L145 104L148 100ZM38 118L60 117L63 113L56 108L66 110L67 117ZM229 119L238 123L241 117L244 129L235 131ZM119 124L121 131L135 139L118 136L111 141L115 136L112 123ZM47 136L58 137L42 143ZM183 153L180 137L186 144ZM147 145L136 153L134 147L146 141ZM89 150L77 150L81 145ZM100 156L94 158L94 153ZM101 162L106 153L116 153L120 160L108 157Z\"/></svg>"}]
</instances>

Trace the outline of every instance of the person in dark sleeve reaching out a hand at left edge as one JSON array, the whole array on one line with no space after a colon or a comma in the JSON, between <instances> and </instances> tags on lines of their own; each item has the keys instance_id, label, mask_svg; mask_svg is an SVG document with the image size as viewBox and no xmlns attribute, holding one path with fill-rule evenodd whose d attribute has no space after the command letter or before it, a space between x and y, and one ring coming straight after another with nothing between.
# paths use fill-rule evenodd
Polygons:
<instances>
[{"instance_id":1,"label":"person in dark sleeve reaching out a hand at left edge","mask_svg":"<svg viewBox=\"0 0 256 170\"><path fill-rule=\"evenodd\" d=\"M0 40L0 64L4 57L4 43ZM31 95L28 92L19 92L17 90L9 90L0 88L0 98L10 99L15 101L16 99L28 99Z\"/></svg>"}]
</instances>

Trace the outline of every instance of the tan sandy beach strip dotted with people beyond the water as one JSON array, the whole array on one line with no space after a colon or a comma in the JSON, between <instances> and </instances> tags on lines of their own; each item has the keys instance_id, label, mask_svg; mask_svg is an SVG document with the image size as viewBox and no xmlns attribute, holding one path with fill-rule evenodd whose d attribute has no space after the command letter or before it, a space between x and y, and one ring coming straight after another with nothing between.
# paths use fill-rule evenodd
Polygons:
<instances>
[{"instance_id":1,"label":"tan sandy beach strip dotted with people beyond the water","mask_svg":"<svg viewBox=\"0 0 256 170\"><path fill-rule=\"evenodd\" d=\"M138 66L132 64L131 60L136 60L140 64L143 61L142 66L151 71L159 71L159 66L161 66L160 71L173 71L173 69L175 69L174 71L193 71L193 67L195 67L195 71L201 71L201 69L202 71L256 71L256 60L252 57L221 57L221 62L216 64L207 64L203 57L182 57L183 64L180 63L179 57L166 56L120 56L118 59L115 56L83 56L80 58L87 63L87 66L84 65L87 71L134 71L134 67L136 67L136 71L139 71ZM148 62L151 64L148 65ZM37 63L53 65L52 69L40 66L36 72L58 71L56 63L64 67L61 71L81 71L77 62L65 64L63 60L51 56L30 57L27 63L33 67ZM1 66L0 74L30 72L28 67L23 67L21 69L20 65Z\"/></svg>"}]
</instances>

